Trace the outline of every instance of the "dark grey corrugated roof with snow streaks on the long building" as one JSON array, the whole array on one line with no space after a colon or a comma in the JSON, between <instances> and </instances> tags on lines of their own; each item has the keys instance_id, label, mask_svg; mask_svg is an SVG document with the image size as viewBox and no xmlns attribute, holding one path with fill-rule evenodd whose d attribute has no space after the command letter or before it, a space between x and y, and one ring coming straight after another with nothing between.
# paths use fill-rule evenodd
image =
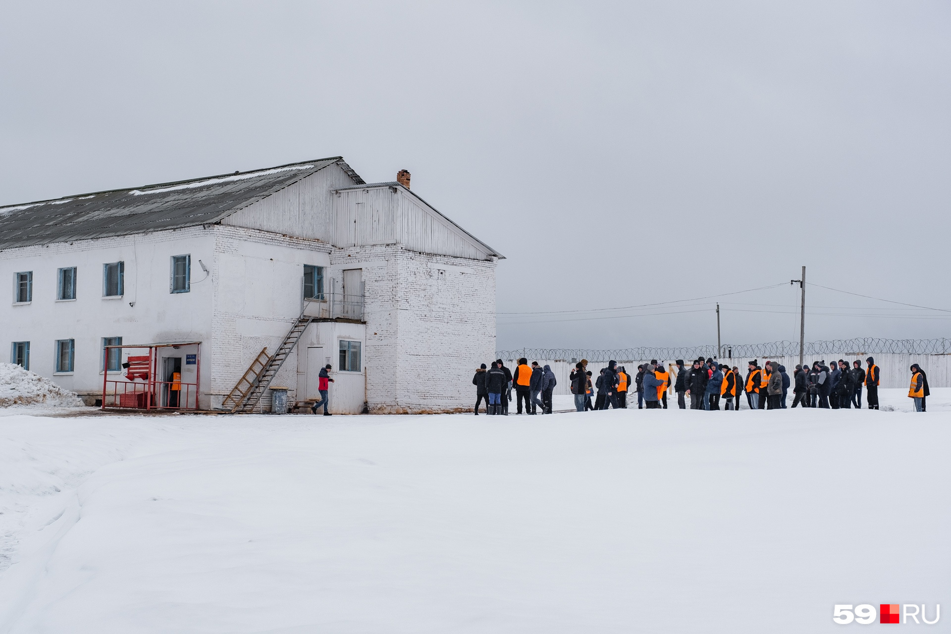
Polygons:
<instances>
[{"instance_id":1,"label":"dark grey corrugated roof with snow streaks on the long building","mask_svg":"<svg viewBox=\"0 0 951 634\"><path fill-rule=\"evenodd\" d=\"M339 163L356 183L363 183L337 156L3 206L0 249L210 224L334 163Z\"/></svg>"}]
</instances>

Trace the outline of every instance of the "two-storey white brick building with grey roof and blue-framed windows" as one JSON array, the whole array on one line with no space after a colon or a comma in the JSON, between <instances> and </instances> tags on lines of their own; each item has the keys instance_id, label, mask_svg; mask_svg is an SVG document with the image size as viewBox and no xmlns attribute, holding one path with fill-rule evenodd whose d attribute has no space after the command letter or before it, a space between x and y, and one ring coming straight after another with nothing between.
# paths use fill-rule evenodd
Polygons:
<instances>
[{"instance_id":1,"label":"two-storey white brick building with grey roof and blue-framed windows","mask_svg":"<svg viewBox=\"0 0 951 634\"><path fill-rule=\"evenodd\" d=\"M303 315L270 381L289 400L316 397L331 363L334 413L451 412L471 407L474 364L494 355L500 258L408 174L367 184L340 157L10 205L0 345L91 403L147 354L105 345L176 344L155 349L154 374L198 382L213 409Z\"/></svg>"}]
</instances>

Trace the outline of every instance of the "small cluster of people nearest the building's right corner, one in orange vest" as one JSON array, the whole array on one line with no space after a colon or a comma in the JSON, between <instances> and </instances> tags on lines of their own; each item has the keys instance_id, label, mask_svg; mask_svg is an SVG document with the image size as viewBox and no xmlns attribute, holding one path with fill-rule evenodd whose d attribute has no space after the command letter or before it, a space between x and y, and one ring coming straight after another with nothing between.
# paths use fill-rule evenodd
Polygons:
<instances>
[{"instance_id":1,"label":"small cluster of people nearest the building's right corner, one in orange vest","mask_svg":"<svg viewBox=\"0 0 951 634\"><path fill-rule=\"evenodd\" d=\"M491 368L486 368L483 363L473 376L473 385L476 386L476 416L478 406L483 400L489 415L509 415L513 388L516 399L515 413L522 413L523 402L525 413L538 413L538 408L541 408L541 413L552 413L552 394L557 383L550 366L541 367L537 361L529 365L525 357L518 359L514 373L505 367L502 359L495 359Z\"/></svg>"}]
</instances>

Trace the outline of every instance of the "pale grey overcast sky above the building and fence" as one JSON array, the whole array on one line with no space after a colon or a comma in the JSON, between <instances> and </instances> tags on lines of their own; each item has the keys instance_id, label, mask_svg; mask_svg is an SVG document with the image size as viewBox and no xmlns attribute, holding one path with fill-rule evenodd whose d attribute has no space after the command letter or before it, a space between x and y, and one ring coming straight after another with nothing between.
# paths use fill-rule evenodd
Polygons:
<instances>
[{"instance_id":1,"label":"pale grey overcast sky above the building and fence","mask_svg":"<svg viewBox=\"0 0 951 634\"><path fill-rule=\"evenodd\" d=\"M499 349L715 343L708 296L784 282L719 298L722 335L798 339L804 264L951 309L949 28L941 2L5 2L0 203L342 155L506 256ZM951 333L807 293L809 341Z\"/></svg>"}]
</instances>

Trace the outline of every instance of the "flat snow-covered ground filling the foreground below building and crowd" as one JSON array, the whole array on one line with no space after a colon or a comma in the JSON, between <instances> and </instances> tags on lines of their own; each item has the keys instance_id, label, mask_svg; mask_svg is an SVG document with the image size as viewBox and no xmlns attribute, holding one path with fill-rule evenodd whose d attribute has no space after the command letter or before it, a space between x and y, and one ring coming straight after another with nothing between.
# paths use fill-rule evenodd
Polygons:
<instances>
[{"instance_id":1,"label":"flat snow-covered ground filling the foreground below building and crowd","mask_svg":"<svg viewBox=\"0 0 951 634\"><path fill-rule=\"evenodd\" d=\"M893 603L933 618L951 605L951 391L935 392L924 414L8 411L0 632L802 633L842 627L835 604Z\"/></svg>"}]
</instances>

